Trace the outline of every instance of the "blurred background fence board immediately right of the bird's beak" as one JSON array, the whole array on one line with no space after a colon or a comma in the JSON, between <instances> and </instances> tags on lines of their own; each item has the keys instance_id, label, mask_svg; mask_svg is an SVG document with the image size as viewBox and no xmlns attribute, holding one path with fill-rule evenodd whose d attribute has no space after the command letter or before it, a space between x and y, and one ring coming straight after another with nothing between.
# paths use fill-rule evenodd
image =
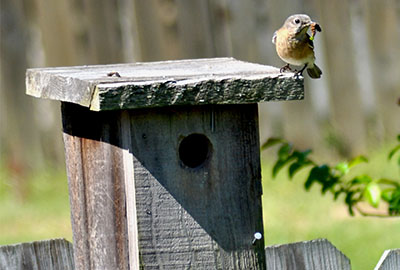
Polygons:
<instances>
[{"instance_id":1,"label":"blurred background fence board immediately right of the bird's beak","mask_svg":"<svg viewBox=\"0 0 400 270\"><path fill-rule=\"evenodd\" d=\"M365 119L357 84L353 59L349 3L345 0L318 1L320 23L325 45L326 68L324 77L330 89L332 126L341 142L342 154L351 155L365 149ZM335 22L335 23L331 23ZM339 34L340 33L340 34ZM340 38L338 38L340 36ZM334 52L334 53L332 53Z\"/></svg>"}]
</instances>

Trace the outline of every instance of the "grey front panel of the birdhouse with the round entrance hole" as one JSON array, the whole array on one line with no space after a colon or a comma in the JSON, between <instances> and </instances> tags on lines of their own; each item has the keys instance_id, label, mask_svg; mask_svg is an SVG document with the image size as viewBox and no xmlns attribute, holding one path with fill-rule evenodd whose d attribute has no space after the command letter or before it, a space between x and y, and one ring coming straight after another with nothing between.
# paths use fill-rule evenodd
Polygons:
<instances>
[{"instance_id":1,"label":"grey front panel of the birdhouse with the round entrance hole","mask_svg":"<svg viewBox=\"0 0 400 270\"><path fill-rule=\"evenodd\" d=\"M257 106L142 109L129 111L129 121L141 263L257 269Z\"/></svg>"}]
</instances>

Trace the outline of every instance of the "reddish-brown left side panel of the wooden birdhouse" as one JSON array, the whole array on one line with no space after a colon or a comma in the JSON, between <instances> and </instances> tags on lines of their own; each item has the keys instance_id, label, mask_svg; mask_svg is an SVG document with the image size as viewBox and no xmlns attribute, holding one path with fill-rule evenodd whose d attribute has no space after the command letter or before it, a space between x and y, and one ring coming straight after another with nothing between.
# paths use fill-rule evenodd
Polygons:
<instances>
[{"instance_id":1,"label":"reddish-brown left side panel of the wooden birdhouse","mask_svg":"<svg viewBox=\"0 0 400 270\"><path fill-rule=\"evenodd\" d=\"M71 105L72 104L68 104ZM63 106L76 269L129 269L124 149L115 113ZM134 269L134 268L133 268Z\"/></svg>"}]
</instances>

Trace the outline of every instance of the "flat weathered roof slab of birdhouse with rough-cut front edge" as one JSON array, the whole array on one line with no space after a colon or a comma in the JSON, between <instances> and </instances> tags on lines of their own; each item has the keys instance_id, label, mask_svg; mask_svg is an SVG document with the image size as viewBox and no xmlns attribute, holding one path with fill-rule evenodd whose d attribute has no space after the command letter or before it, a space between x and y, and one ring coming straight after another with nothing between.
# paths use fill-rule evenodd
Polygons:
<instances>
[{"instance_id":1,"label":"flat weathered roof slab of birdhouse with rough-cut front edge","mask_svg":"<svg viewBox=\"0 0 400 270\"><path fill-rule=\"evenodd\" d=\"M302 78L233 58L28 69L26 85L29 95L95 111L304 97Z\"/></svg>"}]
</instances>

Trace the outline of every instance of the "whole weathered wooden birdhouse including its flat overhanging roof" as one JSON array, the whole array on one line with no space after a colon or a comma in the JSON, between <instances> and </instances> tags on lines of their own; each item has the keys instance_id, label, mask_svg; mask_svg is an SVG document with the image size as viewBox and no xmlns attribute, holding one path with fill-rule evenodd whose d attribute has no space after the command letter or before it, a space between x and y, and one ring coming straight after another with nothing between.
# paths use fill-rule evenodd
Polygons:
<instances>
[{"instance_id":1,"label":"whole weathered wooden birdhouse including its flat overhanging roof","mask_svg":"<svg viewBox=\"0 0 400 270\"><path fill-rule=\"evenodd\" d=\"M31 69L27 93L63 102L76 269L265 268L256 103L302 79L216 58Z\"/></svg>"}]
</instances>

